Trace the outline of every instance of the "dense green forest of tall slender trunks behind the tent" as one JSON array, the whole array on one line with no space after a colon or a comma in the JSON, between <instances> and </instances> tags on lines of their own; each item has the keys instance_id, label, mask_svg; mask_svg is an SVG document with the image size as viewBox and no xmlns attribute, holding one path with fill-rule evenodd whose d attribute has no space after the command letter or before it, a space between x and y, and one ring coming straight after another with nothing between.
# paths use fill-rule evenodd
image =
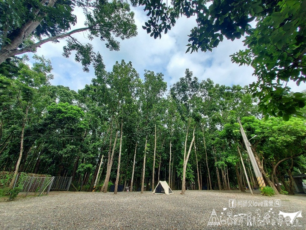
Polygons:
<instances>
[{"instance_id":1,"label":"dense green forest of tall slender trunks behind the tent","mask_svg":"<svg viewBox=\"0 0 306 230\"><path fill-rule=\"evenodd\" d=\"M258 188L240 117L248 139L257 135L250 143L266 185L293 194L285 175L306 172L305 119L263 119L247 86L199 82L188 69L167 86L162 73L139 76L122 60L111 72L97 64L92 84L76 92L51 85L50 60L33 58L33 66L26 57L0 65L1 171L72 176L82 191L92 191L96 178L104 192L109 182L148 191L159 180L174 190L243 191L240 151Z\"/></svg>"}]
</instances>

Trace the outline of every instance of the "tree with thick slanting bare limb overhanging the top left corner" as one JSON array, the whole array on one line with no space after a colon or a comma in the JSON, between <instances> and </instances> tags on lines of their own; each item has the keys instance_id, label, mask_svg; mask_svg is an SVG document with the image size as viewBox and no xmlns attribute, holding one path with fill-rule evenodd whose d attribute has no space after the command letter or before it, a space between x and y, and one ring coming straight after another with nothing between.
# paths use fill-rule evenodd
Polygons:
<instances>
[{"instance_id":1,"label":"tree with thick slanting bare limb overhanging the top left corner","mask_svg":"<svg viewBox=\"0 0 306 230\"><path fill-rule=\"evenodd\" d=\"M74 7L83 8L85 27L71 29L77 22ZM88 10L90 9L90 10ZM0 2L0 64L8 57L33 52L46 42L68 38L64 56L76 50L76 61L88 65L100 61L91 44L81 44L73 34L88 31L88 39L99 37L107 41L110 50L119 50L113 38L128 39L137 35L134 13L125 1L99 0L20 0Z\"/></svg>"}]
</instances>

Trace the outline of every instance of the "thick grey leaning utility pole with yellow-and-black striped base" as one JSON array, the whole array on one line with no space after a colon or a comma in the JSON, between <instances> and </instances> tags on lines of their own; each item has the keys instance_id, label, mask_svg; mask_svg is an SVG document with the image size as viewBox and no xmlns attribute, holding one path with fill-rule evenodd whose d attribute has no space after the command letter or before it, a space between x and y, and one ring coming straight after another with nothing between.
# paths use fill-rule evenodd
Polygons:
<instances>
[{"instance_id":1,"label":"thick grey leaning utility pole with yellow-and-black striped base","mask_svg":"<svg viewBox=\"0 0 306 230\"><path fill-rule=\"evenodd\" d=\"M250 160L251 160L251 164L252 164L252 166L253 166L253 170L254 170L254 173L255 173L255 176L256 176L258 185L259 185L260 188L261 188L261 187L265 187L266 185L265 185L265 183L264 183L264 181L263 181L263 175L261 174L261 172L260 172L260 170L259 170L259 168L258 168L257 162L256 162L255 157L254 157L254 154L253 154L253 151L252 151L252 149L251 149L251 144L249 143L248 138L247 138L247 135L246 135L245 132L244 132L244 129L243 129L243 127L242 127L242 124L241 124L241 122L240 122L240 119L237 118L237 120L238 120L238 123L239 123L239 125L240 125L240 133L241 133L241 135L242 135L244 145L245 145L245 147L246 147L246 149L247 149L248 157L249 157Z\"/></svg>"}]
</instances>

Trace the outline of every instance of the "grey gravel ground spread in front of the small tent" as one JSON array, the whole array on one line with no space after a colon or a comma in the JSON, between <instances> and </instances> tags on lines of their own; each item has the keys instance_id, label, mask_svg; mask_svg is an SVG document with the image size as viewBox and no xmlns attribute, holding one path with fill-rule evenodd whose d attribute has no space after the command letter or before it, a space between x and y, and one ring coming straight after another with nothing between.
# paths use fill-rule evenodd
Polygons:
<instances>
[{"instance_id":1,"label":"grey gravel ground spread in front of the small tent","mask_svg":"<svg viewBox=\"0 0 306 230\"><path fill-rule=\"evenodd\" d=\"M151 192L119 192L117 195L50 192L48 196L1 202L0 230L306 229L306 200L302 196L251 196L238 191L186 191L183 196L180 191L173 192L168 196ZM247 206L243 206L246 202ZM233 204L234 208L229 207ZM213 209L218 226L208 226ZM283 218L280 225L279 211L302 211L302 217L297 217L293 225ZM244 215L248 212L256 226L247 226L248 219ZM263 226L258 226L258 217L259 220L266 217Z\"/></svg>"}]
</instances>

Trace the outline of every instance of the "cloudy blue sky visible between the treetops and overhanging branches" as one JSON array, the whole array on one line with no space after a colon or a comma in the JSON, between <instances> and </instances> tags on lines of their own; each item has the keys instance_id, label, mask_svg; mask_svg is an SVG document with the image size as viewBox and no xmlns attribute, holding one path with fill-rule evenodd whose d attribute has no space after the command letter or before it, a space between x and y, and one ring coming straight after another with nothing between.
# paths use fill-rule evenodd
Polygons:
<instances>
[{"instance_id":1,"label":"cloudy blue sky visible between the treetops and overhanging branches","mask_svg":"<svg viewBox=\"0 0 306 230\"><path fill-rule=\"evenodd\" d=\"M126 62L131 61L133 67L143 78L144 70L161 72L164 74L164 80L167 81L168 87L177 82L180 77L184 76L186 68L193 71L193 76L199 80L210 78L214 83L231 85L248 85L256 78L252 76L253 68L249 66L238 66L232 63L229 55L232 55L239 49L244 49L243 39L240 40L223 40L222 43L214 48L212 52L187 53L186 45L188 44L188 34L195 26L195 18L180 18L176 25L163 34L161 39L153 39L142 29L142 25L148 20L143 7L132 8L135 12L135 22L138 27L138 35L134 38L120 41L120 51L109 51L105 47L105 42L98 38L93 39L94 51L99 51L103 55L104 64L107 71L111 71L116 61L124 59ZM78 24L73 29L84 26L84 15L81 9L76 9L75 14L78 18ZM73 37L82 43L88 43L86 34L78 33ZM94 78L94 72L91 69L89 73L83 72L82 65L74 61L73 54L70 58L62 56L63 46L66 44L65 39L60 43L48 42L37 49L38 55L44 55L51 60L53 65L54 79L53 85L68 86L70 89L82 89L85 84L90 84ZM31 54L28 54L31 56ZM306 88L304 83L299 87L294 82L289 82L288 86L292 91L302 91Z\"/></svg>"}]
</instances>

